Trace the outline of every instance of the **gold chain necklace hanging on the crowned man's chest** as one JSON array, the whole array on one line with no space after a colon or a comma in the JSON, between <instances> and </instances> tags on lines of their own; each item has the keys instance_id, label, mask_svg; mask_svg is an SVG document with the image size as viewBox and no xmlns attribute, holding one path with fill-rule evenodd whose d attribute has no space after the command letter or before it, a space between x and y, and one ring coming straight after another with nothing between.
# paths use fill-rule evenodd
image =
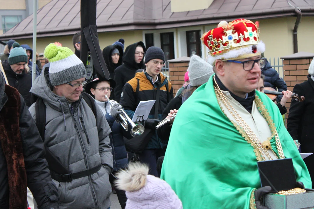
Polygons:
<instances>
[{"instance_id":1,"label":"gold chain necklace hanging on the crowned man's chest","mask_svg":"<svg viewBox=\"0 0 314 209\"><path fill-rule=\"evenodd\" d=\"M267 149L265 146L263 146L263 144L260 143L260 140L259 138L257 138L256 134L252 131L252 129L248 126L248 124L243 120L243 118L241 118L241 116L238 114L238 112L232 107L232 105L230 104L230 102L228 101L228 99L226 98L225 94L222 92L222 90L219 88L217 82L216 82L216 79L215 79L215 76L214 76L214 90L215 90L215 94L217 96L217 98L220 99L220 101L224 104L224 106L227 108L227 110L230 112L230 114L232 115L232 117L236 120L236 122L239 124L239 126L241 127L242 130L244 130L244 132L246 133L247 137L249 139L251 139L251 142L252 142L252 146L255 147L257 149L257 160L260 161L260 157L258 157L258 154L259 156L262 156L262 159L263 160L266 160L265 158L265 155L267 155L267 157L270 159L270 160L273 160L273 158L270 156L270 154L268 153ZM256 96L257 97L257 96ZM258 97L257 97L258 98ZM258 98L259 99L259 98ZM259 103L259 102L258 102ZM219 105L220 106L220 105ZM231 109L232 111L231 111ZM221 110L223 111L222 107L220 107ZM265 107L263 105L261 105L262 109L265 109ZM260 109L258 108L258 109ZM223 111L224 112L224 111ZM262 113L268 113L267 111L262 111ZM225 114L225 112L224 112ZM226 114L225 114L226 115ZM269 113L268 113L268 116L269 116ZM227 115L226 115L227 117ZM281 146L281 143L280 143L280 140L279 140L279 136L278 136L278 133L277 133L277 130L276 128L274 127L274 124L272 121L269 120L269 117L265 117L263 115L263 117L266 119L267 121L267 124L268 126L270 127L270 130L272 132L272 135L275 136L275 140L276 140L276 146L277 146L277 150L278 150L278 154L279 154L279 159L284 159L284 152L283 152L283 149L282 149L282 146ZM228 117L227 117L228 118ZM230 120L231 121L231 120ZM233 123L233 125L236 127L237 124L235 124L233 121L231 121L231 123ZM240 130L238 130L240 131ZM276 154L275 154L276 156Z\"/></svg>"}]
</instances>

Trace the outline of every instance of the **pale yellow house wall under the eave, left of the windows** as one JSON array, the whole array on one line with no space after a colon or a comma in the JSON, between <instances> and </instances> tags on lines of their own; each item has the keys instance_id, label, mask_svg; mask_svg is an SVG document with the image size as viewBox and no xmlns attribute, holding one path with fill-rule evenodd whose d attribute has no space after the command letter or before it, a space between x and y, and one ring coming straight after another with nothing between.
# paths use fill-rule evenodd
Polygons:
<instances>
[{"instance_id":1,"label":"pale yellow house wall under the eave, left of the windows","mask_svg":"<svg viewBox=\"0 0 314 209\"><path fill-rule=\"evenodd\" d=\"M37 52L43 53L46 46L50 43L59 42L62 46L66 46L74 51L73 42L72 42L73 35L69 36L58 36L58 37L45 37L45 38L37 38ZM123 38L125 40L125 47L124 49L135 42L143 41L143 32L141 30L133 30L133 31L123 31L123 32L106 32L106 33L99 33L99 44L100 49L102 50L108 45L113 44L115 41ZM33 47L33 39L15 39L20 44L28 44L31 48Z\"/></svg>"}]
</instances>

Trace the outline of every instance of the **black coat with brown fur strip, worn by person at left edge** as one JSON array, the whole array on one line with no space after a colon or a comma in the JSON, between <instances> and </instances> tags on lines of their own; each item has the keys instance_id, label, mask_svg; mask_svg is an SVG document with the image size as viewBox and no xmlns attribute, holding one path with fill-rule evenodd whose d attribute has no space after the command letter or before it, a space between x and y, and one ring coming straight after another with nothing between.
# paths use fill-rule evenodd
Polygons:
<instances>
[{"instance_id":1,"label":"black coat with brown fur strip, worn by person at left edge","mask_svg":"<svg viewBox=\"0 0 314 209\"><path fill-rule=\"evenodd\" d=\"M8 97L4 96L0 101L0 111L8 101ZM19 118L19 128L22 138L22 148L25 170L27 175L27 187L32 192L39 209L58 208L59 194L56 185L52 182L48 164L45 159L44 143L37 130L35 121L33 120L28 107L26 107L23 97L21 97L21 109ZM0 162L6 162L0 146ZM5 166L6 167L6 166ZM0 170L1 185L8 188L7 169ZM6 185L5 185L6 184ZM2 188L3 188L2 186ZM0 190L0 199L8 189ZM0 208L5 208L0 202Z\"/></svg>"}]
</instances>

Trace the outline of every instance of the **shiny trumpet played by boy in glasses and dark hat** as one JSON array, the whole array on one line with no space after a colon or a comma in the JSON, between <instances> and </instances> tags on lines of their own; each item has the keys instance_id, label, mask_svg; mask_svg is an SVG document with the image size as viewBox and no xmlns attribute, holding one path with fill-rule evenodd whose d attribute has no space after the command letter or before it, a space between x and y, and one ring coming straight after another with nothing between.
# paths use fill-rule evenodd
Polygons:
<instances>
[{"instance_id":1,"label":"shiny trumpet played by boy in glasses and dark hat","mask_svg":"<svg viewBox=\"0 0 314 209\"><path fill-rule=\"evenodd\" d=\"M108 102L110 103L111 107L114 105L114 104L117 104L118 102L114 101L114 100L109 100L108 96L106 95L105 96L106 99L108 100ZM122 128L126 131L128 131L128 128L127 128L127 123L130 123L131 126L132 126L132 129L131 129L131 135L133 137L137 137L139 135L141 135L143 132L144 132L144 126L141 124L141 123L138 123L138 124L135 124L131 118L129 118L129 116L127 116L127 113L121 109L122 113L117 115L117 118L116 118L116 122L117 123L120 123Z\"/></svg>"}]
</instances>

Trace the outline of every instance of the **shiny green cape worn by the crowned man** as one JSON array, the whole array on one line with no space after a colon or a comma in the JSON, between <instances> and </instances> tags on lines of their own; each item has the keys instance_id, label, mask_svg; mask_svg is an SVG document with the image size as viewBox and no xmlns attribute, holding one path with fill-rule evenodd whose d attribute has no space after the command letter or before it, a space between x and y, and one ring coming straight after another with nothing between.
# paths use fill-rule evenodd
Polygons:
<instances>
[{"instance_id":1,"label":"shiny green cape worn by the crowned man","mask_svg":"<svg viewBox=\"0 0 314 209\"><path fill-rule=\"evenodd\" d=\"M297 181L311 188L311 178L278 107L263 93L285 158L292 158ZM276 154L275 138L271 145ZM261 187L254 148L221 111L213 76L182 104L171 129L161 178L176 192L184 209L254 208ZM251 203L251 204L250 204Z\"/></svg>"}]
</instances>

